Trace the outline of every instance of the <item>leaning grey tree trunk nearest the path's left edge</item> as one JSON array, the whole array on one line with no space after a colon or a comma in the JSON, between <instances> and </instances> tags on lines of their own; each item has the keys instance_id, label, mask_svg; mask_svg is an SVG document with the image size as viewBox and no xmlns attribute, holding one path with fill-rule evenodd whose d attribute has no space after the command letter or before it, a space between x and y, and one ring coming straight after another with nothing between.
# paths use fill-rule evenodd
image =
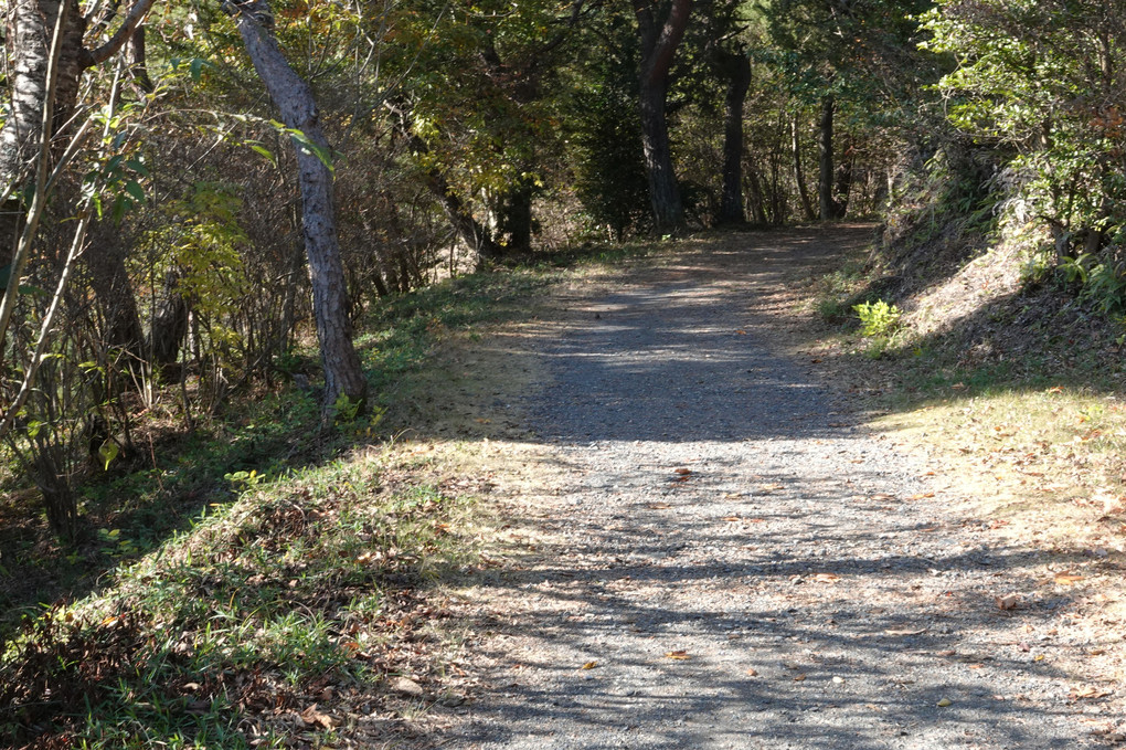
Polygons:
<instances>
[{"instance_id":1,"label":"leaning grey tree trunk nearest the path's left edge","mask_svg":"<svg viewBox=\"0 0 1126 750\"><path fill-rule=\"evenodd\" d=\"M357 403L367 396L367 382L351 340L348 289L332 204L332 171L327 163L331 151L318 120L313 92L289 66L274 36L274 17L266 0L234 5L232 14L254 71L280 110L282 122L307 140L302 143L294 139L293 143L297 152L313 315L324 366L324 410L331 416L341 396Z\"/></svg>"}]
</instances>

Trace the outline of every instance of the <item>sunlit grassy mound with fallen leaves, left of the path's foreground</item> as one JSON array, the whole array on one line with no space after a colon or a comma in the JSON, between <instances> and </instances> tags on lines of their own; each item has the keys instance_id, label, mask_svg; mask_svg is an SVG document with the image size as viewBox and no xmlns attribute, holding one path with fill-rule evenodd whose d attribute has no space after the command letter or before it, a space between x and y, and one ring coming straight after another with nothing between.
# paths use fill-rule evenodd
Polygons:
<instances>
[{"instance_id":1,"label":"sunlit grassy mound with fallen leaves, left of the path's foreground","mask_svg":"<svg viewBox=\"0 0 1126 750\"><path fill-rule=\"evenodd\" d=\"M441 616L419 591L475 561L472 505L397 471L385 454L248 490L101 596L27 620L0 668L0 736L292 747L388 675L432 679L417 644Z\"/></svg>"}]
</instances>

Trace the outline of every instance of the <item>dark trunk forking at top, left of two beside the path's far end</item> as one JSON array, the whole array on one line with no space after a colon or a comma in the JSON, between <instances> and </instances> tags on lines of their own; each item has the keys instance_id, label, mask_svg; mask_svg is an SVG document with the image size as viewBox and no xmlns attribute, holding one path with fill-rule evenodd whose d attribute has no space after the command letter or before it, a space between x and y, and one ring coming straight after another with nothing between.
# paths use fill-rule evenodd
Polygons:
<instances>
[{"instance_id":1,"label":"dark trunk forking at top, left of two beside the path's far end","mask_svg":"<svg viewBox=\"0 0 1126 750\"><path fill-rule=\"evenodd\" d=\"M688 27L692 0L673 0L669 16L658 29L653 6L633 0L641 42L640 104L642 146L649 177L650 202L658 233L676 231L685 223L677 175L672 168L665 100L673 55Z\"/></svg>"}]
</instances>

